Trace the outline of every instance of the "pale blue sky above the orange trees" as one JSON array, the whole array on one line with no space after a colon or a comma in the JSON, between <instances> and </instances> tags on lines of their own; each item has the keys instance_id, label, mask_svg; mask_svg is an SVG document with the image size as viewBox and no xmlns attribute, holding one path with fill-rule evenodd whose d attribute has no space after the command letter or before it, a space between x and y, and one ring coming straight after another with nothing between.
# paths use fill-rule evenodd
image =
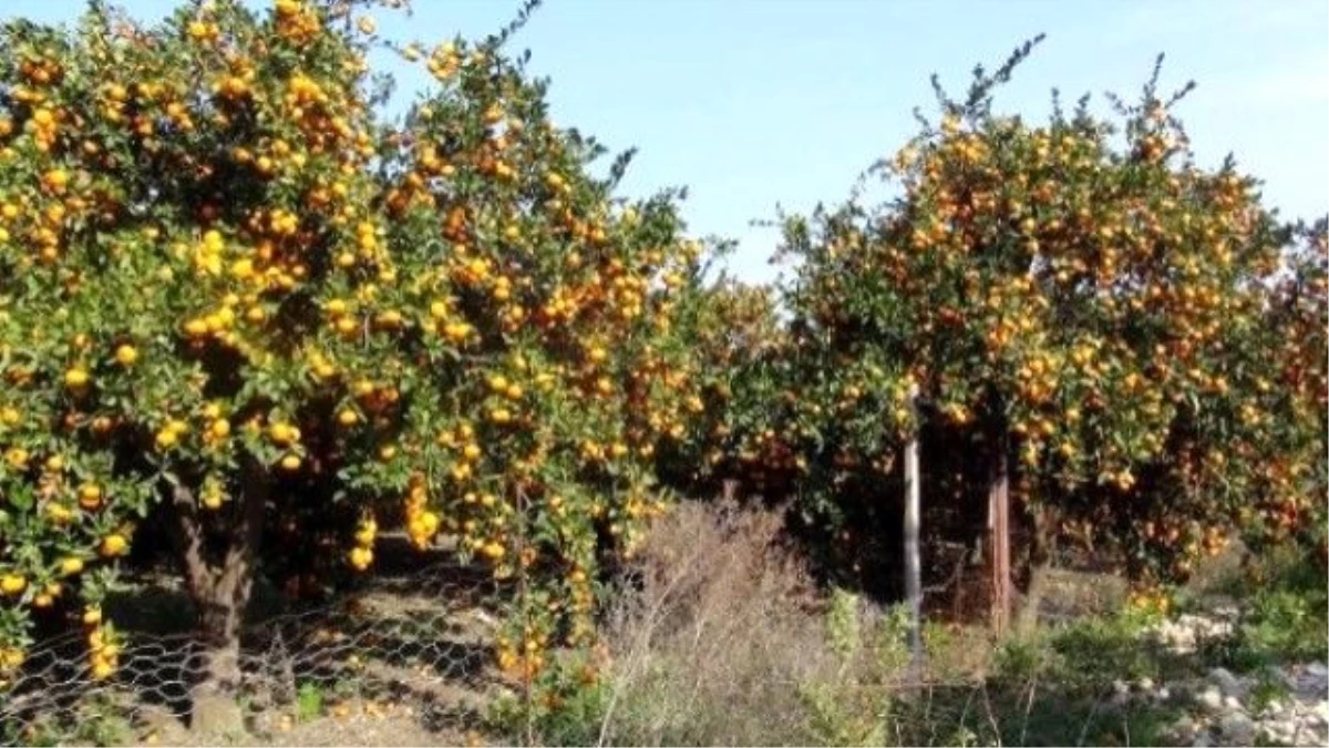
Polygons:
<instances>
[{"instance_id":1,"label":"pale blue sky above the orange trees","mask_svg":"<svg viewBox=\"0 0 1329 748\"><path fill-rule=\"evenodd\" d=\"M174 0L124 0L141 19ZM5 0L0 13L68 20L81 0ZM379 11L395 37L477 36L516 0L415 0ZM769 280L776 205L843 198L869 162L914 132L928 76L960 89L975 63L1047 40L998 96L1041 116L1049 92L1134 94L1155 55L1167 88L1195 79L1179 113L1203 162L1235 152L1286 216L1329 212L1329 3L1324 0L546 0L514 47L553 79L554 118L611 148L638 146L623 189L690 188L699 234L739 240L730 265ZM409 76L403 87L423 85ZM1104 109L1100 109L1104 110Z\"/></svg>"}]
</instances>

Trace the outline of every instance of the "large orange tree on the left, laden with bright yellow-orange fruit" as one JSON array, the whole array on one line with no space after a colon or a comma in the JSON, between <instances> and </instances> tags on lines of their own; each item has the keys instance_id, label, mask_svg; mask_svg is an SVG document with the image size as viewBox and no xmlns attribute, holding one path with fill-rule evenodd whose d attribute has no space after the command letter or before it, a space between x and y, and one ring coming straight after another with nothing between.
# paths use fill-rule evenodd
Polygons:
<instances>
[{"instance_id":1,"label":"large orange tree on the left, laden with bright yellow-orange fruit","mask_svg":"<svg viewBox=\"0 0 1329 748\"><path fill-rule=\"evenodd\" d=\"M593 176L601 146L550 124L506 32L389 45L367 5L0 29L7 669L35 620L74 619L110 675L100 603L166 516L209 688L264 559L318 536L302 552L363 571L388 526L530 580L498 643L529 676L661 508L700 253L674 196L614 198L626 160ZM435 79L404 117L375 47Z\"/></svg>"}]
</instances>

